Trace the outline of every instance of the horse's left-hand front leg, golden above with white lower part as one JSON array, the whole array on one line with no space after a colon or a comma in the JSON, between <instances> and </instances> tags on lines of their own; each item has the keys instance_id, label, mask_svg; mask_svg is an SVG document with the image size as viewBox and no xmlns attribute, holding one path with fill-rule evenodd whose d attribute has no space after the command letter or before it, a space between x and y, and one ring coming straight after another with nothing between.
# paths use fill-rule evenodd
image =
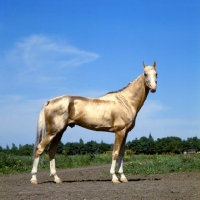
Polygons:
<instances>
[{"instance_id":1,"label":"horse's left-hand front leg, golden above with white lower part","mask_svg":"<svg viewBox=\"0 0 200 200\"><path fill-rule=\"evenodd\" d=\"M116 161L118 159L118 156L119 156L119 153L121 151L121 147L122 147L124 140L126 140L126 131L125 130L122 130L122 131L115 133L115 142L114 142L113 154L112 154L112 164L111 164L111 168L110 168L110 173L112 175L112 182L113 183L120 183L119 179L117 178L117 176L115 174L115 168L116 168ZM121 160L120 163L123 166L121 156L119 157L119 159ZM121 166L121 164L120 164L120 166ZM123 167L122 167L122 173L123 173Z\"/></svg>"}]
</instances>

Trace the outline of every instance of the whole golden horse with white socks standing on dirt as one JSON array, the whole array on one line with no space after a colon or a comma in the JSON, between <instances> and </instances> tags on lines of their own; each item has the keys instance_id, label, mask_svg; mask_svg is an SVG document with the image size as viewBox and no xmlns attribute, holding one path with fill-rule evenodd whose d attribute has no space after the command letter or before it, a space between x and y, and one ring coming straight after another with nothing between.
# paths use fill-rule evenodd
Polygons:
<instances>
[{"instance_id":1,"label":"whole golden horse with white socks standing on dirt","mask_svg":"<svg viewBox=\"0 0 200 200\"><path fill-rule=\"evenodd\" d=\"M156 91L156 62L146 66L144 73L125 88L107 93L100 98L85 98L80 96L60 96L47 101L39 115L37 138L34 150L34 162L31 171L31 183L37 184L37 167L39 157L47 145L50 158L50 175L56 183L61 179L56 174L55 152L63 132L68 126L75 125L95 130L115 133L110 173L112 182L128 182L123 173L123 157L128 132L135 126L137 113L144 104L149 93ZM116 161L120 181L115 174Z\"/></svg>"}]
</instances>

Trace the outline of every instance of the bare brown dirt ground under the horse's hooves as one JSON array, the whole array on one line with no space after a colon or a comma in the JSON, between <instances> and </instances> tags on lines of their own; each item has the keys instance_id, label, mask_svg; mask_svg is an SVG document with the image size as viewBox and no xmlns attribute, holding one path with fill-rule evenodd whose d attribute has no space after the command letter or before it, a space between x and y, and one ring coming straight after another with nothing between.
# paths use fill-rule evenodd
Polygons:
<instances>
[{"instance_id":1,"label":"bare brown dirt ground under the horse's hooves","mask_svg":"<svg viewBox=\"0 0 200 200\"><path fill-rule=\"evenodd\" d=\"M200 172L134 175L127 176L128 183L113 184L109 168L58 169L61 184L55 184L47 170L38 172L37 185L30 183L30 173L0 175L0 199L200 199Z\"/></svg>"}]
</instances>

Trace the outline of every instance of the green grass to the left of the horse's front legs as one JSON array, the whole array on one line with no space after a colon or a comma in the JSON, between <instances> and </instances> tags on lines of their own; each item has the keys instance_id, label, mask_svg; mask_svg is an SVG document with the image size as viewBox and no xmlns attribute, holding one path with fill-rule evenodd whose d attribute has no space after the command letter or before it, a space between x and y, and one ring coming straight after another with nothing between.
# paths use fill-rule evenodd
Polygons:
<instances>
[{"instance_id":1,"label":"green grass to the left of the horse's front legs","mask_svg":"<svg viewBox=\"0 0 200 200\"><path fill-rule=\"evenodd\" d=\"M49 157L44 155L39 163L38 169L49 169ZM57 168L75 168L111 163L110 154L87 154L75 156L56 156ZM31 171L33 164L32 156L15 156L0 153L0 174L11 174L17 172Z\"/></svg>"}]
</instances>

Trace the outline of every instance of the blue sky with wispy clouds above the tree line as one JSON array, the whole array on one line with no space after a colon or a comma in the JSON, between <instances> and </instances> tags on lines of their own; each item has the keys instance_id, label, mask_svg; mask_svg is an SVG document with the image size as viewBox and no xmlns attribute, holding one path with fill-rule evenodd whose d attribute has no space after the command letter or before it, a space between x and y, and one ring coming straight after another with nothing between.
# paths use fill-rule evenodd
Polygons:
<instances>
[{"instance_id":1,"label":"blue sky with wispy clouds above the tree line","mask_svg":"<svg viewBox=\"0 0 200 200\"><path fill-rule=\"evenodd\" d=\"M200 2L0 1L0 146L35 142L44 102L63 94L100 97L157 62L128 140L200 138ZM114 134L68 128L62 141Z\"/></svg>"}]
</instances>

